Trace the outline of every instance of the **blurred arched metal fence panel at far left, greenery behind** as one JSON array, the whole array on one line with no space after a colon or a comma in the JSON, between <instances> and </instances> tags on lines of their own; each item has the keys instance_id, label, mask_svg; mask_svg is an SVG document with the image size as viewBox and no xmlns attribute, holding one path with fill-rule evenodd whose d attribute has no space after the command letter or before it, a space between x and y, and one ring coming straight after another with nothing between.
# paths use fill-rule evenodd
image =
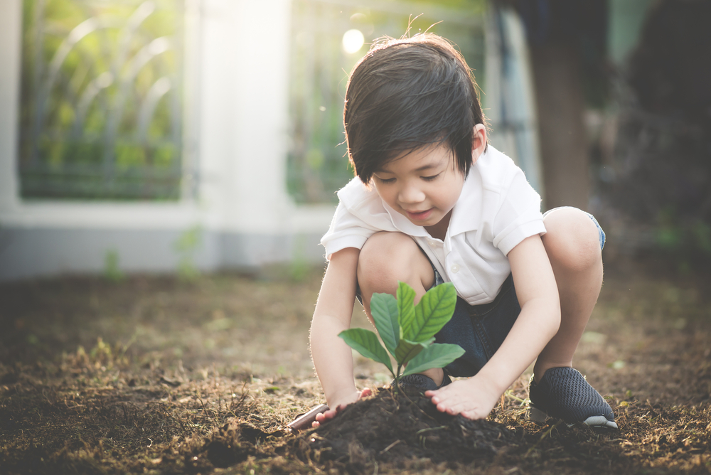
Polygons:
<instances>
[{"instance_id":1,"label":"blurred arched metal fence panel at far left, greenery behind","mask_svg":"<svg viewBox=\"0 0 711 475\"><path fill-rule=\"evenodd\" d=\"M25 0L21 196L180 198L182 38L181 0Z\"/></svg>"}]
</instances>

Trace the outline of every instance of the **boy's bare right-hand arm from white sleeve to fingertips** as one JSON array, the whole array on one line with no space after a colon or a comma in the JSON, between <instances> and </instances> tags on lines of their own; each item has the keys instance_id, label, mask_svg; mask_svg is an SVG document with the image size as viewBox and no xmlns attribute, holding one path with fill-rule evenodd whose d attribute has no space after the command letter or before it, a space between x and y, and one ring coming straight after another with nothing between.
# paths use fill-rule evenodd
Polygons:
<instances>
[{"instance_id":1,"label":"boy's bare right-hand arm from white sleeve to fingertips","mask_svg":"<svg viewBox=\"0 0 711 475\"><path fill-rule=\"evenodd\" d=\"M560 299L550 261L539 235L527 237L508 253L521 313L513 328L479 373L456 381L432 396L437 408L479 419L533 363L560 326ZM458 384L464 383L464 384Z\"/></svg>"}]
</instances>

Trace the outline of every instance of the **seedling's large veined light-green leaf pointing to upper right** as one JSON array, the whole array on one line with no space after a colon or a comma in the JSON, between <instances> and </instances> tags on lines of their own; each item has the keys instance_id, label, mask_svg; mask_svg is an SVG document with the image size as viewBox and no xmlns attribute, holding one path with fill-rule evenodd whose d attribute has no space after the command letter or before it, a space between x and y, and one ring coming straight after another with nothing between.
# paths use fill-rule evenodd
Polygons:
<instances>
[{"instance_id":1,"label":"seedling's large veined light-green leaf pointing to upper right","mask_svg":"<svg viewBox=\"0 0 711 475\"><path fill-rule=\"evenodd\" d=\"M429 340L451 319L455 306L454 284L445 282L432 287L415 306L415 317L410 326L403 325L405 338L410 341Z\"/></svg>"}]
</instances>

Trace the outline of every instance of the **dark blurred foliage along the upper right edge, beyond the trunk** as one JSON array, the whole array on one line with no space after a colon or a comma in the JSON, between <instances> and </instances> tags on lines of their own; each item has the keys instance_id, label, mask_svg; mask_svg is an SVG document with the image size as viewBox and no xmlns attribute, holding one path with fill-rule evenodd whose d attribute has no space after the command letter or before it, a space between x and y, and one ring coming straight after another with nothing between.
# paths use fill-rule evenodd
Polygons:
<instances>
[{"instance_id":1,"label":"dark blurred foliage along the upper right edge, beyond the trunk","mask_svg":"<svg viewBox=\"0 0 711 475\"><path fill-rule=\"evenodd\" d=\"M611 78L618 109L600 196L647 233L646 251L679 269L711 264L711 2L658 1L626 68ZM664 35L659 35L664 31Z\"/></svg>"}]
</instances>

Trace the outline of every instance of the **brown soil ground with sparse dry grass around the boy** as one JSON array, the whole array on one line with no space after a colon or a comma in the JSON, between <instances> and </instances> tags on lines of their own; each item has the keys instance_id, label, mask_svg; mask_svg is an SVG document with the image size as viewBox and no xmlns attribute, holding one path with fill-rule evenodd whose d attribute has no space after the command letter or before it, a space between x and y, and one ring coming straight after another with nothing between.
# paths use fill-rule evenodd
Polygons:
<instances>
[{"instance_id":1,"label":"brown soil ground with sparse dry grass around the boy","mask_svg":"<svg viewBox=\"0 0 711 475\"><path fill-rule=\"evenodd\" d=\"M711 279L607 264L575 366L619 431L525 420L525 373L471 422L383 388L317 431L308 351L323 269L0 286L0 473L711 473ZM354 308L354 325L368 327Z\"/></svg>"}]
</instances>

